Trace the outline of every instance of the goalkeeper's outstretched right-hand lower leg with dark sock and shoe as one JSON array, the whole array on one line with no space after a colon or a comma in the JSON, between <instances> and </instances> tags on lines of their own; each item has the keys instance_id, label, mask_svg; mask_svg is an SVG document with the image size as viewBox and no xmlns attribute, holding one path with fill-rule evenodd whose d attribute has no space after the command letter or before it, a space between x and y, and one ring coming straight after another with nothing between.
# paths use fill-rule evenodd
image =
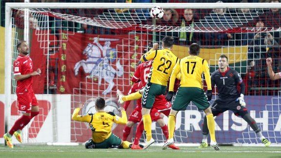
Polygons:
<instances>
[{"instance_id":1,"label":"goalkeeper's outstretched right-hand lower leg with dark sock and shoe","mask_svg":"<svg viewBox=\"0 0 281 158\"><path fill-rule=\"evenodd\" d=\"M256 135L260 138L261 142L266 147L271 144L271 142L262 135L261 128L259 128L259 126L257 125L256 120L250 116L246 107L241 106L241 108L232 109L232 111L234 112L234 114L240 115L241 118L250 125L250 127L255 131Z\"/></svg>"}]
</instances>

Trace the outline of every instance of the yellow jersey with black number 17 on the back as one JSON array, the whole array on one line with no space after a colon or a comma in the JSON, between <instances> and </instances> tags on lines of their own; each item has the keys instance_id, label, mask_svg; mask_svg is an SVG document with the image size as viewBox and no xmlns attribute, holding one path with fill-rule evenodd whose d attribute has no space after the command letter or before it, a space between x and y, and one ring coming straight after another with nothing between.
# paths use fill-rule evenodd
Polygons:
<instances>
[{"instance_id":1,"label":"yellow jersey with black number 17 on the back","mask_svg":"<svg viewBox=\"0 0 281 158\"><path fill-rule=\"evenodd\" d=\"M188 56L181 59L171 74L169 91L174 91L177 75L181 73L181 87L198 87L203 89L202 74L204 73L208 90L211 90L210 68L205 59L198 56Z\"/></svg>"}]
</instances>

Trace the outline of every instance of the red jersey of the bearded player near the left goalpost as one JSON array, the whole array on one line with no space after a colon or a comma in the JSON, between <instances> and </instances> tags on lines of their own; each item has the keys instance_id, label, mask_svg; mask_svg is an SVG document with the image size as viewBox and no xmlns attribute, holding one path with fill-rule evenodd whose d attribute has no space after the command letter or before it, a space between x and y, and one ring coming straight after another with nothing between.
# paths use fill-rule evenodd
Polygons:
<instances>
[{"instance_id":1,"label":"red jersey of the bearded player near the left goalpost","mask_svg":"<svg viewBox=\"0 0 281 158\"><path fill-rule=\"evenodd\" d=\"M33 62L29 56L20 56L14 61L14 76L33 72ZM32 91L32 77L17 81L16 93Z\"/></svg>"}]
</instances>

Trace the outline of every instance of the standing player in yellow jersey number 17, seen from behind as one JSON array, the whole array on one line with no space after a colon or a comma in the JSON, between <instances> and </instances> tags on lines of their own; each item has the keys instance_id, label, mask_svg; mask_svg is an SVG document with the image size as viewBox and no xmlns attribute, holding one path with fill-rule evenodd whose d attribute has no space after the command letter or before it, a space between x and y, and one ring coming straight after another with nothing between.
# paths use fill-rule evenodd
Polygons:
<instances>
[{"instance_id":1,"label":"standing player in yellow jersey number 17, seen from behind","mask_svg":"<svg viewBox=\"0 0 281 158\"><path fill-rule=\"evenodd\" d=\"M206 60L198 57L199 54L200 46L197 43L192 43L189 46L189 56L181 59L173 68L169 93L166 96L167 100L171 100L173 97L174 82L179 73L181 73L181 82L168 117L169 138L162 146L162 149L167 149L170 144L174 143L176 116L179 111L185 110L190 101L192 101L199 110L205 112L211 137L210 144L215 150L220 150L215 138L215 120L208 102L208 100L212 99L212 93L208 93L209 96L206 96L202 85L202 74L204 73L207 90L212 91L210 68Z\"/></svg>"}]
</instances>

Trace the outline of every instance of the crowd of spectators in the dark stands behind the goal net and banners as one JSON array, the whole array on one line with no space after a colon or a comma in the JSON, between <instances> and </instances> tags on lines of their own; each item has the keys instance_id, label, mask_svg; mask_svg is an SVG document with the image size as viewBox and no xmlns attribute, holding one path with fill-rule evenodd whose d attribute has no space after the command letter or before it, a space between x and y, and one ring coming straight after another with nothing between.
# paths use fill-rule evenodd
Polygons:
<instances>
[{"instance_id":1,"label":"crowd of spectators in the dark stands behind the goal net and banners","mask_svg":"<svg viewBox=\"0 0 281 158\"><path fill-rule=\"evenodd\" d=\"M23 2L24 0L2 0L1 1L1 25L4 26L4 4L5 2ZM117 3L132 3L132 2L152 2L152 0L30 0L30 2L117 2ZM155 2L271 2L279 3L281 0L156 0ZM124 16L132 14L133 11L128 9L55 9L54 12L77 15L87 18L95 18L103 13L109 13L119 17L119 20L124 20ZM152 24L148 10L137 9L137 15L142 15L146 19L140 19L142 24ZM22 11L15 11L15 24L22 28ZM123 18L122 18L123 16ZM47 25L44 19L36 19L30 16L30 27L40 29ZM58 31L66 29L87 34L128 34L130 30L110 29L87 24L65 22L50 17L49 26L52 27L52 33L58 34ZM200 44L203 48L221 48L225 46L247 46L248 57L247 65L248 73L242 76L247 79L247 92L255 94L250 87L275 87L279 86L279 81L272 81L266 75L266 58L272 58L273 70L279 71L281 68L277 63L281 57L281 32L277 29L281 25L281 9L165 9L163 18L156 20L155 25L173 26L173 27L189 27L195 31L179 32L170 31L157 33L157 40L162 40L165 36L172 36L175 39L175 44L188 46L193 42ZM199 25L205 28L226 28L219 32L202 32L198 30ZM239 26L239 27L237 27ZM196 28L198 27L198 28ZM236 29L239 28L239 29ZM254 28L248 31L247 28ZM274 28L274 29L271 29ZM196 31L197 30L197 31ZM57 39L60 37L57 36ZM275 64L276 63L276 64ZM55 84L55 83L53 83ZM263 95L269 95L264 93Z\"/></svg>"}]
</instances>

